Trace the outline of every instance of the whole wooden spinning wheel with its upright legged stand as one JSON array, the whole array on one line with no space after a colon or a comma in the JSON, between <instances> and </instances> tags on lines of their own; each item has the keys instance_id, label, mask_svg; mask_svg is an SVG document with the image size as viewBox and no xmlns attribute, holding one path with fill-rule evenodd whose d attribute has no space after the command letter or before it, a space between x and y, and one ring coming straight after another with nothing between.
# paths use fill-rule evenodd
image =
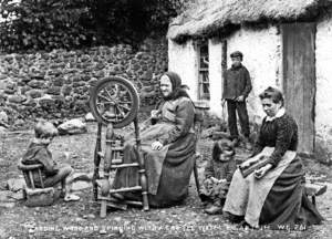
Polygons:
<instances>
[{"instance_id":1,"label":"whole wooden spinning wheel with its upright legged stand","mask_svg":"<svg viewBox=\"0 0 332 239\"><path fill-rule=\"evenodd\" d=\"M93 174L93 194L95 200L101 201L101 217L106 216L106 207L116 207L125 209L126 205L114 201L113 194L124 191L142 191L142 201L123 200L125 204L143 206L148 210L147 179L144 166L144 159L141 155L141 138L137 121L139 108L139 97L134 85L126 79L120 76L105 77L96 83L91 90L90 108L96 121L97 137L94 150L94 174ZM124 127L134 123L136 148L138 152L137 162L125 164L123 162L124 145L114 133L114 128ZM107 125L105 135L105 152L102 152L102 124ZM100 164L104 159L104 174L100 177ZM118 189L111 188L110 170L118 168L136 168L139 175L139 185L133 187L123 187ZM98 188L101 194L98 194ZM113 199L113 200L112 200Z\"/></svg>"}]
</instances>

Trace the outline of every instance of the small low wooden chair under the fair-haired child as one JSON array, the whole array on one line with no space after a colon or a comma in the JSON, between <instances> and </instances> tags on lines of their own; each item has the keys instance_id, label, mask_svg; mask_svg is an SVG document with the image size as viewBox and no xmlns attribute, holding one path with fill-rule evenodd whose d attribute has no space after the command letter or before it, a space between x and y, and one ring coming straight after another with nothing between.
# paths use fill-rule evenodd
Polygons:
<instances>
[{"instance_id":1,"label":"small low wooden chair under the fair-haired child","mask_svg":"<svg viewBox=\"0 0 332 239\"><path fill-rule=\"evenodd\" d=\"M44 187L44 181L41 175L42 164L24 165L19 162L18 168L23 173L27 187L24 188L27 195L25 205L29 207L50 206L54 202L54 188ZM38 175L41 188L35 187L33 175Z\"/></svg>"}]
</instances>

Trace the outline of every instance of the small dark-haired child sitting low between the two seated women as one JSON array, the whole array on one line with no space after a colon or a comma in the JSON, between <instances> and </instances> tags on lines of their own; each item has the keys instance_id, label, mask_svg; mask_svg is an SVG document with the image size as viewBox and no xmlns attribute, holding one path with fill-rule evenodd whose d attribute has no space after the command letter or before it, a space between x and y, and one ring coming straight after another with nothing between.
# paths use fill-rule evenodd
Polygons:
<instances>
[{"instance_id":1,"label":"small dark-haired child sitting low between the two seated women","mask_svg":"<svg viewBox=\"0 0 332 239\"><path fill-rule=\"evenodd\" d=\"M222 212L228 187L236 170L235 148L230 139L222 138L215 143L212 158L205 168L205 180L200 198L206 204L205 212Z\"/></svg>"}]
</instances>

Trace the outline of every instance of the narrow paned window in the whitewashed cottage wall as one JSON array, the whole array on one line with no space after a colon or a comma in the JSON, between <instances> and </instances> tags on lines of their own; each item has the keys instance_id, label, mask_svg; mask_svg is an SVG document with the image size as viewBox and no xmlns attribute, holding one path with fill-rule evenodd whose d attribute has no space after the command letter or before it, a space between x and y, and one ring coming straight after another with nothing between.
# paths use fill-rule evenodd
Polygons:
<instances>
[{"instance_id":1,"label":"narrow paned window in the whitewashed cottage wall","mask_svg":"<svg viewBox=\"0 0 332 239\"><path fill-rule=\"evenodd\" d=\"M198 100L210 100L208 42L198 43Z\"/></svg>"}]
</instances>

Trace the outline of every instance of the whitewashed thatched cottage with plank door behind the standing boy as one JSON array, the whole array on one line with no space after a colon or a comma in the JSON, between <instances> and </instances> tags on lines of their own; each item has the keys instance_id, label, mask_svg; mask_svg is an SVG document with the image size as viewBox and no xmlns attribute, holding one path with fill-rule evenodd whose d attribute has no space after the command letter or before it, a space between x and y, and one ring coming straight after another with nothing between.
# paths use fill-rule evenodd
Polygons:
<instances>
[{"instance_id":1,"label":"whitewashed thatched cottage with plank door behind the standing boy","mask_svg":"<svg viewBox=\"0 0 332 239\"><path fill-rule=\"evenodd\" d=\"M258 94L277 86L299 125L300 152L332 153L332 1L206 0L169 24L168 67L195 100L222 116L222 71L239 50L251 74L251 121L263 112Z\"/></svg>"}]
</instances>

